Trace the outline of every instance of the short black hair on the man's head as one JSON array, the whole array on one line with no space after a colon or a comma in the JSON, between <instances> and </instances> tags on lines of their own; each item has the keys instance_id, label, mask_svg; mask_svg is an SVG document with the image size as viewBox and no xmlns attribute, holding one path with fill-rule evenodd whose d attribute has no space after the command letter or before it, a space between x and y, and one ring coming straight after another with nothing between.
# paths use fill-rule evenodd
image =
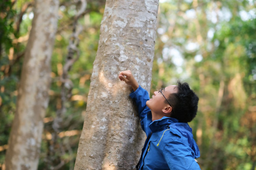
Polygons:
<instances>
[{"instance_id":1,"label":"short black hair on the man's head","mask_svg":"<svg viewBox=\"0 0 256 170\"><path fill-rule=\"evenodd\" d=\"M170 94L167 99L172 106L171 116L179 122L191 122L197 115L198 96L190 89L187 82L177 81L178 92Z\"/></svg>"}]
</instances>

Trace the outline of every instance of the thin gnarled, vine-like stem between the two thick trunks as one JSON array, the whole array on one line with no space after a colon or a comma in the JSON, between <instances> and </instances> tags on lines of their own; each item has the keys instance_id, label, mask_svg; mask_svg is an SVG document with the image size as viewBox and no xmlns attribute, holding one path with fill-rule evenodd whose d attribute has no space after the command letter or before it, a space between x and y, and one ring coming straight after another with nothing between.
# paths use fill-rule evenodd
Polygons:
<instances>
[{"instance_id":1,"label":"thin gnarled, vine-like stem between the two thick trunks","mask_svg":"<svg viewBox=\"0 0 256 170\"><path fill-rule=\"evenodd\" d=\"M79 4L81 3L81 4ZM63 122L63 118L64 118L64 114L67 111L66 107L65 107L65 103L67 102L67 100L72 96L72 88L73 88L73 82L72 80L69 79L69 70L71 69L72 65L74 64L74 62L76 62L79 59L80 56L80 52L78 49L79 46L79 34L82 32L83 30L83 26L78 24L78 19L80 17L83 16L84 11L86 9L87 6L87 2L86 0L79 0L77 1L77 6L80 6L79 11L77 12L77 14L74 16L74 20L72 23L72 34L69 38L69 45L68 45L68 53L67 53L67 58L66 58L66 62L63 66L63 71L62 71L62 75L61 75L61 108L59 110L57 110L56 112L56 117L53 121L53 132L51 133L52 135L52 143L50 148L50 155L54 155L54 153L60 151L61 155L64 155L66 150L64 149L64 144L63 143L57 143L57 140L59 138L59 133L61 131L61 128L63 128L64 126L64 122ZM71 119L68 119L67 121L70 121ZM56 147L56 145L58 145L58 147ZM55 149L56 148L56 149ZM70 153L70 147L67 147L68 151ZM54 158L56 159L56 158ZM52 169L59 169L64 165L64 161L57 158L60 162L59 165L57 166L53 166L53 162L54 160L49 159L49 162L51 164L51 168Z\"/></svg>"}]
</instances>

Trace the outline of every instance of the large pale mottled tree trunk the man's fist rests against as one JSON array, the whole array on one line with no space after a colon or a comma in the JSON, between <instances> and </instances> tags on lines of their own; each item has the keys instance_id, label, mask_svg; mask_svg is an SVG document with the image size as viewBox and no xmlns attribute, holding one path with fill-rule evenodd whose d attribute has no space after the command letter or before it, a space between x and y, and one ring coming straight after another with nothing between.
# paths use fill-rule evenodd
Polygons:
<instances>
[{"instance_id":1,"label":"large pale mottled tree trunk the man's fist rests against","mask_svg":"<svg viewBox=\"0 0 256 170\"><path fill-rule=\"evenodd\" d=\"M145 136L118 74L131 70L149 91L157 11L158 0L107 0L75 170L135 168Z\"/></svg>"}]
</instances>

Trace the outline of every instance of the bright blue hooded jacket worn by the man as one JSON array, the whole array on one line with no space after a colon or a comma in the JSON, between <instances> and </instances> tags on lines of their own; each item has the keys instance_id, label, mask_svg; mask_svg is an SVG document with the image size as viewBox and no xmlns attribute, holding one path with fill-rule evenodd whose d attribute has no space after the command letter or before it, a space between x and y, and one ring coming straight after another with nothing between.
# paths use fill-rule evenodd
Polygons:
<instances>
[{"instance_id":1,"label":"bright blue hooded jacket worn by the man","mask_svg":"<svg viewBox=\"0 0 256 170\"><path fill-rule=\"evenodd\" d=\"M140 170L200 170L195 158L200 151L187 123L171 117L152 122L146 106L149 95L141 86L130 97L136 101L141 127L147 135L139 162Z\"/></svg>"}]
</instances>

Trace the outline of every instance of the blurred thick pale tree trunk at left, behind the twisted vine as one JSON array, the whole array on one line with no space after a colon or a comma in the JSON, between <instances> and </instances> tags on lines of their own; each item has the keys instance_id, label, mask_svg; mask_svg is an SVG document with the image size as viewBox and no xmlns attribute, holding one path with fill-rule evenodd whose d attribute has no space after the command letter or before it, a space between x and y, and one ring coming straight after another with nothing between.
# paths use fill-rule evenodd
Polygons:
<instances>
[{"instance_id":1,"label":"blurred thick pale tree trunk at left, behind the twisted vine","mask_svg":"<svg viewBox=\"0 0 256 170\"><path fill-rule=\"evenodd\" d=\"M20 86L17 110L6 153L7 170L36 170L49 102L51 54L58 18L58 0L36 0Z\"/></svg>"}]
</instances>

